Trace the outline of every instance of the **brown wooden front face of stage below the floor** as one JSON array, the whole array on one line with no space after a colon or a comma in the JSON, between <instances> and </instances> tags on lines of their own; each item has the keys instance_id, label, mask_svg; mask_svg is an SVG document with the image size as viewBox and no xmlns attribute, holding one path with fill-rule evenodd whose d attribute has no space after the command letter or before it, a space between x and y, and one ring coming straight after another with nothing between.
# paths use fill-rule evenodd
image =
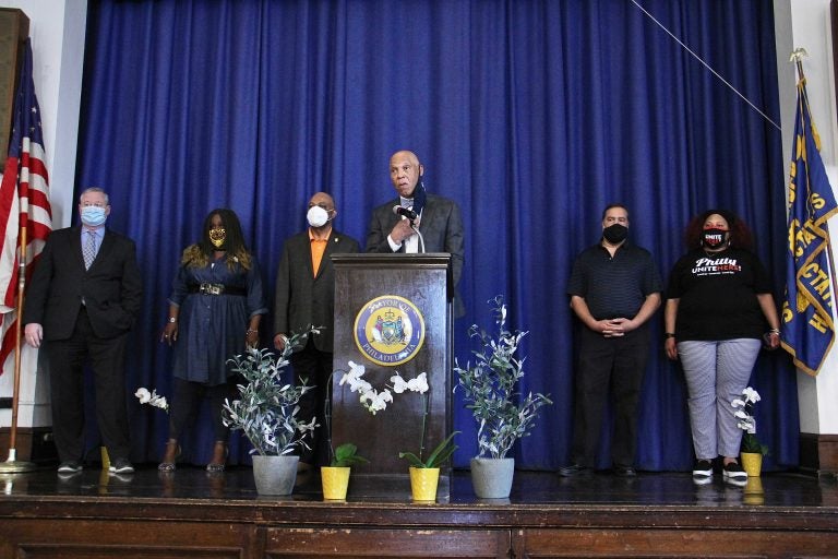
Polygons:
<instances>
[{"instance_id":1,"label":"brown wooden front face of stage below the floor","mask_svg":"<svg viewBox=\"0 0 838 559\"><path fill-rule=\"evenodd\" d=\"M826 507L55 496L2 499L0 518L0 557L838 557Z\"/></svg>"}]
</instances>

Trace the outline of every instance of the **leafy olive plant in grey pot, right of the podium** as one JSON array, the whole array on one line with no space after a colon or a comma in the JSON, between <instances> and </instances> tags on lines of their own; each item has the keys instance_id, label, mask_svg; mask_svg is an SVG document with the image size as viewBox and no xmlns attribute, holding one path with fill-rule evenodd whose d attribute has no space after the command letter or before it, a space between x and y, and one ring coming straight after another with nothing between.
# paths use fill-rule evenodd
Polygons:
<instances>
[{"instance_id":1,"label":"leafy olive plant in grey pot, right of the podium","mask_svg":"<svg viewBox=\"0 0 838 559\"><path fill-rule=\"evenodd\" d=\"M480 342L472 350L471 361L460 367L455 361L459 388L464 391L466 407L477 420L478 454L471 459L471 483L475 493L484 499L510 496L515 472L515 459L506 454L516 440L529 435L538 409L552 404L549 394L518 392L524 377L524 359L516 359L520 340L527 332L506 330L506 305L503 297L490 299L498 335L492 337L477 324L469 328L469 337Z\"/></svg>"}]
</instances>

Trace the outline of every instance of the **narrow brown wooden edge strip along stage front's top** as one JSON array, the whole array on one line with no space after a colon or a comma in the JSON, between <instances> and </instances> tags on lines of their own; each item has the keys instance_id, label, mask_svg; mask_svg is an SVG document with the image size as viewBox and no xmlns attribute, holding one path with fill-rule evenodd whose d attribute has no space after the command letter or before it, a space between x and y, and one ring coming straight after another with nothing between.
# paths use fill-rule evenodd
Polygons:
<instances>
[{"instance_id":1,"label":"narrow brown wooden edge strip along stage front's top","mask_svg":"<svg viewBox=\"0 0 838 559\"><path fill-rule=\"evenodd\" d=\"M308 528L600 528L600 530L757 530L836 532L835 507L756 507L637 504L494 504L271 500L155 499L136 496L16 496L0 500L0 519L251 524ZM1 524L1 523L0 523ZM838 548L836 548L838 552Z\"/></svg>"}]
</instances>

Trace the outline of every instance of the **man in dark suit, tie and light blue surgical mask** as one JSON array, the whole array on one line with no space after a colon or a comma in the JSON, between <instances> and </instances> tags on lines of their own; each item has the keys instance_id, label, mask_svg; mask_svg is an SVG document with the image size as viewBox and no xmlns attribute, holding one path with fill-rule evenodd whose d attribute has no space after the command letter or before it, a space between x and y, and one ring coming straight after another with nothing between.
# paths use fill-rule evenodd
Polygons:
<instances>
[{"instance_id":1,"label":"man in dark suit, tie and light blue surgical mask","mask_svg":"<svg viewBox=\"0 0 838 559\"><path fill-rule=\"evenodd\" d=\"M49 359L52 430L59 473L82 469L84 364L96 389L96 417L110 472L130 474L125 411L125 344L142 301L134 241L105 228L108 195L88 188L79 199L81 226L52 231L35 266L23 309L26 343Z\"/></svg>"}]
</instances>

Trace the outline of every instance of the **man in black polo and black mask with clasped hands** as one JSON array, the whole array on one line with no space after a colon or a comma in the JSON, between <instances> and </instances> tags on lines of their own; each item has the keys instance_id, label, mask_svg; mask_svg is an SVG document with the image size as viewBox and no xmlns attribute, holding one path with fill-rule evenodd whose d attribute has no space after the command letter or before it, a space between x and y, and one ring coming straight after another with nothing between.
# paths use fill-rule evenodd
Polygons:
<instances>
[{"instance_id":1,"label":"man in black polo and black mask with clasped hands","mask_svg":"<svg viewBox=\"0 0 838 559\"><path fill-rule=\"evenodd\" d=\"M602 213L602 239L573 264L567 284L571 308L582 321L576 370L573 463L562 476L589 474L597 464L602 412L611 386L614 402L612 472L634 476L637 402L648 360L648 320L660 306L660 274L646 249L626 241L628 211Z\"/></svg>"}]
</instances>

